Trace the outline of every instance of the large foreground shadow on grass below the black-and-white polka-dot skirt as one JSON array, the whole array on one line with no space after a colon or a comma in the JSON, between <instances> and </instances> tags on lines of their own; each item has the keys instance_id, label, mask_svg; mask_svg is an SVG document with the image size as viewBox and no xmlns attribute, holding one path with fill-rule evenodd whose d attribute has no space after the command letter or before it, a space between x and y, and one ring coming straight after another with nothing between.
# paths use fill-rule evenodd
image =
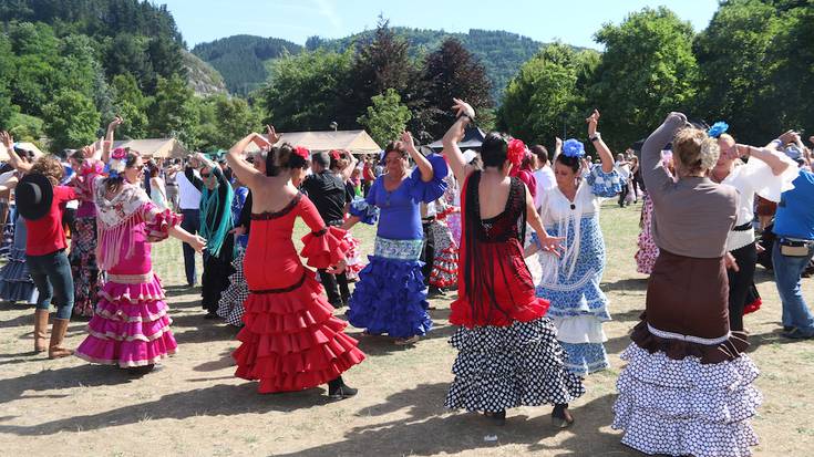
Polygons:
<instances>
[{"instance_id":1,"label":"large foreground shadow on grass below the black-and-white polka-dot skirt","mask_svg":"<svg viewBox=\"0 0 814 457\"><path fill-rule=\"evenodd\" d=\"M406 411L406 418L385 420L348 430L338 443L319 445L309 449L278 454L285 456L337 455L419 455L457 454L464 450L490 449L501 445L525 445L528 451L565 450L561 455L633 455L621 444L616 434L604 433L600 427L612 420L614 396L607 395L587 404L573 407L576 423L563 432L550 425L550 406L535 408L545 412L529 418L515 409L507 412L506 425L497 427L475 413L458 412L449 415L443 407L447 383L420 384L398 392L383 403L365 407L357 413L363 417L385 417ZM570 437L564 444L547 446L546 438L558 433ZM487 435L496 442L484 439ZM590 436L591 439L586 439ZM560 455L560 454L558 454Z\"/></svg>"}]
</instances>

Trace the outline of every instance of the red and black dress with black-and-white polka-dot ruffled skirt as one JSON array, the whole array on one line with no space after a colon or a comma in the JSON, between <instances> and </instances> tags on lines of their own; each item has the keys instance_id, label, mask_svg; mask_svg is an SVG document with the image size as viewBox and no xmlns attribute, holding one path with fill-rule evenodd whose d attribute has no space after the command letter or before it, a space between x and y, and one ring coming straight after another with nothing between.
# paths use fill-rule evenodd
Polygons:
<instances>
[{"instance_id":1,"label":"red and black dress with black-and-white polka-dot ruffled skirt","mask_svg":"<svg viewBox=\"0 0 814 457\"><path fill-rule=\"evenodd\" d=\"M463 236L458 295L450 339L458 351L445 406L501 413L516 406L567 404L585 393L565 368L566 352L545 316L548 302L535 297L523 259L526 187L512 178L506 208L482 219L474 172L463 188Z\"/></svg>"}]
</instances>

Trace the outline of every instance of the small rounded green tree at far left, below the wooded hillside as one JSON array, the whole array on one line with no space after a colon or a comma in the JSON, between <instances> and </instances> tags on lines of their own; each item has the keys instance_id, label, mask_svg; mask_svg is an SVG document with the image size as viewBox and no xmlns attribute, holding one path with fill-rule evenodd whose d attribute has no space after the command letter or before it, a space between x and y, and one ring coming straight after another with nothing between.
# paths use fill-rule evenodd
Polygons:
<instances>
[{"instance_id":1,"label":"small rounded green tree at far left, below the wooded hillside","mask_svg":"<svg viewBox=\"0 0 814 457\"><path fill-rule=\"evenodd\" d=\"M79 148L96 139L101 118L93 101L81 92L60 91L42 112L51 150Z\"/></svg>"}]
</instances>

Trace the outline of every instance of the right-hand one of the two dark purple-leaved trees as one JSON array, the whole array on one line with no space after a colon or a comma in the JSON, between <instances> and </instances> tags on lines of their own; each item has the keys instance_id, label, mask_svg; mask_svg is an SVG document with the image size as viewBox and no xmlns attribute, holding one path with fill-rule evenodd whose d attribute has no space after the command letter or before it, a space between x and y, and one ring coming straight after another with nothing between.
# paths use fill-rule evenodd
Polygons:
<instances>
[{"instance_id":1,"label":"right-hand one of the two dark purple-leaved trees","mask_svg":"<svg viewBox=\"0 0 814 457\"><path fill-rule=\"evenodd\" d=\"M468 102L476 112L490 108L492 84L481 62L460 41L450 38L424 60L422 80L430 123L426 132L440 138L453 122L452 98Z\"/></svg>"}]
</instances>

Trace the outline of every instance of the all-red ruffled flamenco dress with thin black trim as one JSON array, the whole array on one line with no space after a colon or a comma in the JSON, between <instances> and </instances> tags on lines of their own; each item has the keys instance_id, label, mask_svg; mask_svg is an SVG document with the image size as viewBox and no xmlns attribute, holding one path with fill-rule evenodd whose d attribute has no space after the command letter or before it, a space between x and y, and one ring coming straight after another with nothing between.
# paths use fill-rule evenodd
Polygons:
<instances>
[{"instance_id":1,"label":"all-red ruffled flamenco dress with thin black trim","mask_svg":"<svg viewBox=\"0 0 814 457\"><path fill-rule=\"evenodd\" d=\"M259 380L259 393L292 392L336 382L364 354L343 333L315 272L302 266L291 233L297 216L311 228L301 256L312 268L344 258L346 231L326 227L308 197L298 194L286 208L251 215L244 274L249 285L245 326L234 352L236 376Z\"/></svg>"}]
</instances>

